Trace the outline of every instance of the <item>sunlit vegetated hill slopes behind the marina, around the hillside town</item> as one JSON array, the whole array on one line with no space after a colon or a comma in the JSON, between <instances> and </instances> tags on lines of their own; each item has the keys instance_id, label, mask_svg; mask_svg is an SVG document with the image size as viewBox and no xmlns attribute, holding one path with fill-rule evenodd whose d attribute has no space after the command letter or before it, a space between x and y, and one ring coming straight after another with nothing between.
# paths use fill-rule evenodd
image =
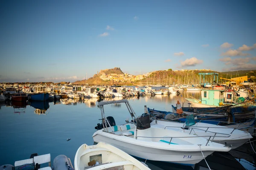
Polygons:
<instances>
[{"instance_id":1,"label":"sunlit vegetated hill slopes behind the marina, around the hillside town","mask_svg":"<svg viewBox=\"0 0 256 170\"><path fill-rule=\"evenodd\" d=\"M200 75L199 73L217 73L218 82L223 83L225 80L221 80L220 77L230 79L241 76L256 77L256 70L241 70L241 71L228 71L228 72L217 72L217 71L199 71L199 70L187 70L187 71L172 71L172 69L164 71L154 71L148 77L143 76L140 80L134 80L131 82L119 82L108 80L104 81L99 78L102 74L124 74L120 68L112 68L101 70L99 74L95 74L93 77L87 80L76 81L73 84L89 84L89 85L173 85L173 84L199 84ZM212 83L213 75L206 75L205 82ZM215 77L217 79L217 77ZM252 78L255 81L255 78ZM203 81L203 76L201 76Z\"/></svg>"}]
</instances>

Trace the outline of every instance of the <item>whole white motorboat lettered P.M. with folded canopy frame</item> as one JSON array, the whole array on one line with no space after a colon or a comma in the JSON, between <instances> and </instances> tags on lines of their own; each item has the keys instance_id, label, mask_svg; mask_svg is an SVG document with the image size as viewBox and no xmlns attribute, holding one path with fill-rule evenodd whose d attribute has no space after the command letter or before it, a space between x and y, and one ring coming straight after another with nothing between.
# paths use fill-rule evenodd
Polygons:
<instances>
[{"instance_id":1,"label":"whole white motorboat lettered P.M. with folded canopy frame","mask_svg":"<svg viewBox=\"0 0 256 170\"><path fill-rule=\"evenodd\" d=\"M103 106L114 103L124 103L127 106L132 117L131 122L126 121L124 125L116 125L113 117L105 116ZM93 134L94 142L106 142L132 156L191 166L214 151L228 152L231 150L231 147L210 142L209 139L200 136L177 130L150 127L149 115L137 117L128 100L125 99L98 102L98 107L102 113L102 124L95 127L97 131Z\"/></svg>"}]
</instances>

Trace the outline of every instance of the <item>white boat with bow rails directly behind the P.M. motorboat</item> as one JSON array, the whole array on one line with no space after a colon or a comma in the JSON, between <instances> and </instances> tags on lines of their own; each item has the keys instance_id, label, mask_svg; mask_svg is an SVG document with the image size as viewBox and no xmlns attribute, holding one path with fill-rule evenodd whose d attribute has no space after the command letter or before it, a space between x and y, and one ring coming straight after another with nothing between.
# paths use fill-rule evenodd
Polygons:
<instances>
[{"instance_id":1,"label":"white boat with bow rails directly behind the P.M. motorboat","mask_svg":"<svg viewBox=\"0 0 256 170\"><path fill-rule=\"evenodd\" d=\"M190 122L195 122L195 120L191 120ZM151 122L151 127L177 130L197 136L204 136L206 139L209 139L207 136L215 136L210 138L210 141L232 145L232 149L241 146L245 142L249 141L249 139L253 138L253 136L251 136L250 133L246 131L238 130L232 127L230 128L201 122L188 125L188 123L154 120Z\"/></svg>"}]
</instances>

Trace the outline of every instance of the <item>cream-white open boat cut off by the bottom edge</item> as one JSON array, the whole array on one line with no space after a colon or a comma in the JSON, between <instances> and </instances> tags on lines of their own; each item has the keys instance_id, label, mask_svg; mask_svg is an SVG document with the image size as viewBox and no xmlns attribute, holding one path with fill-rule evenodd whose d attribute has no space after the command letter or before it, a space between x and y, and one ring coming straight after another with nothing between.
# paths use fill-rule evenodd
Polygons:
<instances>
[{"instance_id":1,"label":"cream-white open boat cut off by the bottom edge","mask_svg":"<svg viewBox=\"0 0 256 170\"><path fill-rule=\"evenodd\" d=\"M82 144L76 152L74 167L75 170L150 170L144 163L104 142Z\"/></svg>"}]
</instances>

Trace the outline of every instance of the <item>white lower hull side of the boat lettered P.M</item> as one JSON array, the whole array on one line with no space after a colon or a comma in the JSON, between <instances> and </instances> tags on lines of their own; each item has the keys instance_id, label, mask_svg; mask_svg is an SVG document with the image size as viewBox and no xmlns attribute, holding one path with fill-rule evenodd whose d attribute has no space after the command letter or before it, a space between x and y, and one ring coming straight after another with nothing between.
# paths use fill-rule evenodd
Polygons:
<instances>
[{"instance_id":1,"label":"white lower hull side of the boat lettered P.M","mask_svg":"<svg viewBox=\"0 0 256 170\"><path fill-rule=\"evenodd\" d=\"M201 152L181 152L174 150L164 150L152 148L150 146L135 145L129 142L122 142L111 137L106 137L101 134L93 135L93 141L96 143L105 142L117 147L129 155L153 161L167 161L171 163L183 164L192 166L200 162L204 157ZM204 151L204 156L208 156L213 151Z\"/></svg>"}]
</instances>

